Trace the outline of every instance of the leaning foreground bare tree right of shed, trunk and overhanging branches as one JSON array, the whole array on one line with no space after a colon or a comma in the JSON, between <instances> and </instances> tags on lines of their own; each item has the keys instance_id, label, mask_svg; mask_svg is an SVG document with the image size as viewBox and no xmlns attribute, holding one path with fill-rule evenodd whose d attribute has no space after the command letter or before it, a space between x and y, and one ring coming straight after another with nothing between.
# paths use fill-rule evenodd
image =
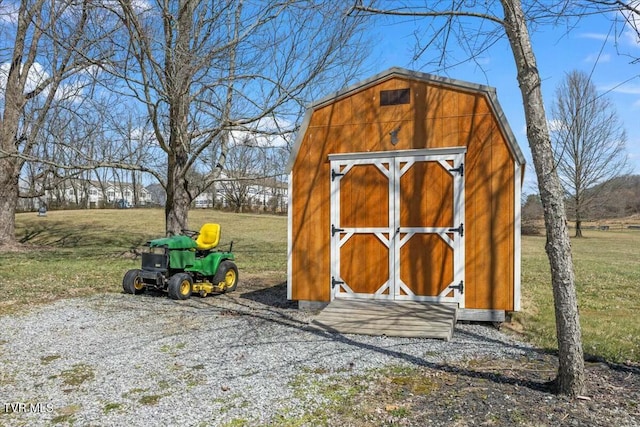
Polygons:
<instances>
[{"instance_id":1,"label":"leaning foreground bare tree right of shed, trunk and overhanging branches","mask_svg":"<svg viewBox=\"0 0 640 427\"><path fill-rule=\"evenodd\" d=\"M447 46L454 42L456 36L458 45L473 58L479 51L490 48L496 40L506 35L517 68L517 80L527 122L527 137L544 207L546 251L551 267L559 349L556 382L559 393L576 396L582 393L584 388L584 359L573 258L566 226L564 192L555 167L542 99L541 79L528 28L528 24L532 24L535 19L562 16L565 6L568 6L568 3L557 2L548 5L532 1L527 5L525 14L520 0L501 0L499 3L434 1L425 2L421 8L413 2L403 2L395 9L365 6L358 0L353 10L359 14L432 18L431 24L426 26L429 35L422 46L422 52L426 48L439 47L441 66L447 59ZM536 14L537 12L539 13ZM470 20L477 20L473 30L469 25ZM438 22L440 24L437 24ZM478 40L474 37L478 35L485 37Z\"/></svg>"}]
</instances>

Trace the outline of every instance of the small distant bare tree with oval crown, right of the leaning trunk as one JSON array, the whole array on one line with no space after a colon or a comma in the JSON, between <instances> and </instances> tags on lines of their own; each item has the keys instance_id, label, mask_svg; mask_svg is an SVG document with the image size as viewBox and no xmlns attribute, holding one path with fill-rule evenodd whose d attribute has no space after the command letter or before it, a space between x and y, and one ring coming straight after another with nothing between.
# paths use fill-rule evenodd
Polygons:
<instances>
[{"instance_id":1,"label":"small distant bare tree with oval crown, right of the leaning trunk","mask_svg":"<svg viewBox=\"0 0 640 427\"><path fill-rule=\"evenodd\" d=\"M606 195L607 188L596 185L626 172L626 133L611 101L598 95L580 71L567 74L556 89L552 119L558 173L576 222L575 235L582 237L582 221Z\"/></svg>"}]
</instances>

